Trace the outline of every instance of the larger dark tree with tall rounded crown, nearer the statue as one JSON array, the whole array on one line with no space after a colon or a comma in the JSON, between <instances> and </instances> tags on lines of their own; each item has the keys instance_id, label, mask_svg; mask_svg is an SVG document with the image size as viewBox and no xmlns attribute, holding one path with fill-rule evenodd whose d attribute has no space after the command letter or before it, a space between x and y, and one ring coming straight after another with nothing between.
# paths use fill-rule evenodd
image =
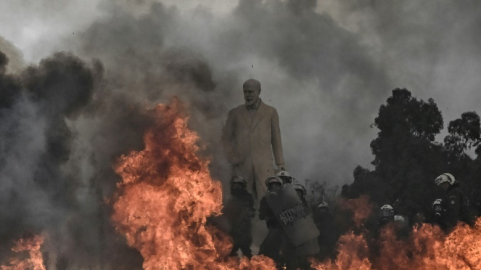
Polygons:
<instances>
[{"instance_id":1,"label":"larger dark tree with tall rounded crown, nearer the statue","mask_svg":"<svg viewBox=\"0 0 481 270\"><path fill-rule=\"evenodd\" d=\"M428 211L435 189L433 179L447 170L442 144L434 138L443 129L443 116L434 100L418 100L396 88L379 108L371 142L374 171L358 166L354 182L345 188L350 197L369 195L381 206L396 205L398 214L414 217Z\"/></svg>"}]
</instances>

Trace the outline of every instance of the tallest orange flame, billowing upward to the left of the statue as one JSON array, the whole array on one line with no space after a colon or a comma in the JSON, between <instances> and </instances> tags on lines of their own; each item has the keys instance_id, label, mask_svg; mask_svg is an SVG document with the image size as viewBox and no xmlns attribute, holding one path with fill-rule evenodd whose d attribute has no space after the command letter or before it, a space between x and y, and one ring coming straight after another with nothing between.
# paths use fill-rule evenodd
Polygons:
<instances>
[{"instance_id":1,"label":"tallest orange flame, billowing upward to the left of the statue","mask_svg":"<svg viewBox=\"0 0 481 270\"><path fill-rule=\"evenodd\" d=\"M182 111L177 100L157 105L145 149L119 160L122 182L111 217L117 229L140 251L144 269L275 269L263 256L227 257L228 238L207 225L221 212L222 188L209 162L196 156L198 136Z\"/></svg>"}]
</instances>

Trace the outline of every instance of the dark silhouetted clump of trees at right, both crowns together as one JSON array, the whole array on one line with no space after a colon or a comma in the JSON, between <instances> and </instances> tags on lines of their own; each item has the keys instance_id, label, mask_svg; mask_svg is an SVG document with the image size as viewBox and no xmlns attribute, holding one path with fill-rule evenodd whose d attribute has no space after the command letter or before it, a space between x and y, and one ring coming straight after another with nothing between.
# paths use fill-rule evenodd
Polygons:
<instances>
[{"instance_id":1,"label":"dark silhouetted clump of trees at right, both crowns together","mask_svg":"<svg viewBox=\"0 0 481 270\"><path fill-rule=\"evenodd\" d=\"M380 106L374 125L379 129L371 142L375 169L356 167L354 182L342 188L343 197L369 195L378 206L395 205L397 213L414 219L416 213L429 213L440 195L433 182L439 174L452 173L466 190L478 187L481 129L476 112L451 121L444 143L436 142L444 123L434 100L418 100L407 89L396 88Z\"/></svg>"}]
</instances>

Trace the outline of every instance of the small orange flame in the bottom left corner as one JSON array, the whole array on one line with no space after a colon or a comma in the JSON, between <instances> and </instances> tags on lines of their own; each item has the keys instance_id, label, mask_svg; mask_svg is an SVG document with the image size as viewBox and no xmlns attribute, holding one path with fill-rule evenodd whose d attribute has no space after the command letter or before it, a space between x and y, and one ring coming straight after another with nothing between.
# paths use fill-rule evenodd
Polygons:
<instances>
[{"instance_id":1,"label":"small orange flame in the bottom left corner","mask_svg":"<svg viewBox=\"0 0 481 270\"><path fill-rule=\"evenodd\" d=\"M44 237L32 236L20 239L15 243L12 251L15 253L28 252L28 257L10 259L10 265L0 265L1 270L46 270L40 247L44 243Z\"/></svg>"}]
</instances>

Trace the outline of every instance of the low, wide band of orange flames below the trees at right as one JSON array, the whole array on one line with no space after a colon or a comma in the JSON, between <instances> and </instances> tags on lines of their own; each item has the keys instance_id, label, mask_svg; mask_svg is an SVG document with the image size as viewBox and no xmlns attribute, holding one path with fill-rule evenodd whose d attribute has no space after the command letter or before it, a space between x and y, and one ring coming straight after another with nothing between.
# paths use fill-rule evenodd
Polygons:
<instances>
[{"instance_id":1,"label":"low, wide band of orange flames below the trees at right","mask_svg":"<svg viewBox=\"0 0 481 270\"><path fill-rule=\"evenodd\" d=\"M312 267L318 270L481 269L481 219L474 227L459 223L449 235L431 224L415 227L405 236L398 234L398 229L396 224L389 224L379 229L377 238L372 238L366 229L358 235L349 232L338 242L336 260L313 260Z\"/></svg>"}]
</instances>

